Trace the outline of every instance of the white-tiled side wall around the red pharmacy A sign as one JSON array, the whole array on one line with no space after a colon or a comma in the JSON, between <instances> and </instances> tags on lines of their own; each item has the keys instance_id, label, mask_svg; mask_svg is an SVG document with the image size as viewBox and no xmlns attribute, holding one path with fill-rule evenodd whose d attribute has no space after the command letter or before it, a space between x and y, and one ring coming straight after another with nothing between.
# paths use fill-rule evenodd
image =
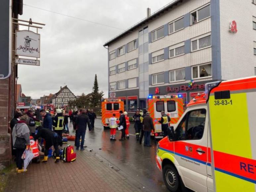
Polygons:
<instances>
[{"instance_id":1,"label":"white-tiled side wall around the red pharmacy A sign","mask_svg":"<svg viewBox=\"0 0 256 192\"><path fill-rule=\"evenodd\" d=\"M253 54L253 41L256 41L256 30L252 28L252 16L256 16L256 5L251 2L220 0L222 79L254 75L256 56ZM229 32L229 24L233 20L237 24L237 33Z\"/></svg>"}]
</instances>

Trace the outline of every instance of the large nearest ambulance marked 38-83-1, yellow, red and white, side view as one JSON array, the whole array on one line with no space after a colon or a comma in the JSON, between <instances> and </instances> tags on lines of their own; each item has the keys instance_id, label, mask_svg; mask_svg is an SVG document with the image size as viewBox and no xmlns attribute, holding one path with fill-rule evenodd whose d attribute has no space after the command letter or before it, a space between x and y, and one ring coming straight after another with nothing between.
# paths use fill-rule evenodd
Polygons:
<instances>
[{"instance_id":1,"label":"large nearest ambulance marked 38-83-1, yellow, red and white, side view","mask_svg":"<svg viewBox=\"0 0 256 192\"><path fill-rule=\"evenodd\" d=\"M256 76L212 82L157 146L167 188L256 191Z\"/></svg>"}]
</instances>

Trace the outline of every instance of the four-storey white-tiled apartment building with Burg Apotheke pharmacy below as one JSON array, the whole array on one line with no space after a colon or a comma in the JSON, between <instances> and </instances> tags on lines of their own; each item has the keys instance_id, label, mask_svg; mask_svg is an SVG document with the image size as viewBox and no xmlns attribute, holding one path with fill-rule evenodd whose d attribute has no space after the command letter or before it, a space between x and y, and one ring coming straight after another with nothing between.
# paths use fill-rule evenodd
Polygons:
<instances>
[{"instance_id":1,"label":"four-storey white-tiled apartment building with Burg Apotheke pharmacy below","mask_svg":"<svg viewBox=\"0 0 256 192\"><path fill-rule=\"evenodd\" d=\"M175 0L104 46L109 94L126 110L148 95L186 104L207 82L256 75L256 0Z\"/></svg>"}]
</instances>

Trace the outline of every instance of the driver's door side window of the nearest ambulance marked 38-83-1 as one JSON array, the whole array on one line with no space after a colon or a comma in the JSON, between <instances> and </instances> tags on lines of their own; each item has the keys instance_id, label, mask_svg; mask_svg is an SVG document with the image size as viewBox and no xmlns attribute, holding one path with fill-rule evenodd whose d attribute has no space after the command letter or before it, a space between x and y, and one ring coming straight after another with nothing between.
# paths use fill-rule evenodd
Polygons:
<instances>
[{"instance_id":1,"label":"driver's door side window of the nearest ambulance marked 38-83-1","mask_svg":"<svg viewBox=\"0 0 256 192\"><path fill-rule=\"evenodd\" d=\"M189 111L175 130L178 140L201 139L204 133L206 109Z\"/></svg>"}]
</instances>

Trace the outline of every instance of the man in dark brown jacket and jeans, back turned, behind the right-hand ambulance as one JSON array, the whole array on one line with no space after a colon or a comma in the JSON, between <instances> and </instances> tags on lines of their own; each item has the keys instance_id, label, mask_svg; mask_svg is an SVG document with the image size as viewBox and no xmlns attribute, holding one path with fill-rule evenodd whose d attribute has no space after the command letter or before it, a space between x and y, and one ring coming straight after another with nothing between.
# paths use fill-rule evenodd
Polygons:
<instances>
[{"instance_id":1,"label":"man in dark brown jacket and jeans, back turned, behind the right-hand ambulance","mask_svg":"<svg viewBox=\"0 0 256 192\"><path fill-rule=\"evenodd\" d=\"M151 147L150 145L150 133L151 130L155 131L153 119L149 116L149 112L146 113L146 116L142 121L143 130L144 130L144 146Z\"/></svg>"}]
</instances>

